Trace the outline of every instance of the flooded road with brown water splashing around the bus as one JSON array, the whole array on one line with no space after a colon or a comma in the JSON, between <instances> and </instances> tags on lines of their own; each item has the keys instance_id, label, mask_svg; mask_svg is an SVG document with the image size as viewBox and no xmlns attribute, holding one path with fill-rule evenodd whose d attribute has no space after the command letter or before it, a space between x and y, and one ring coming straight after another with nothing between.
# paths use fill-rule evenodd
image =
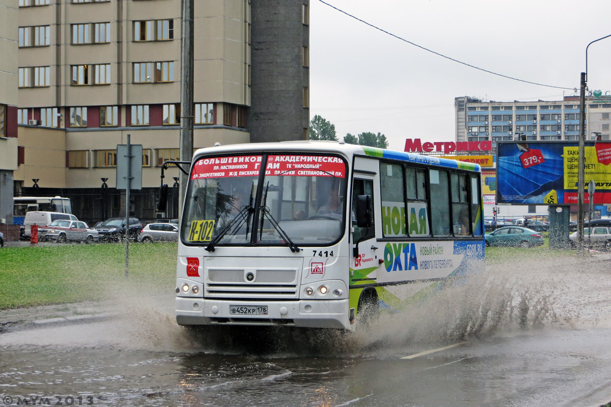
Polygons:
<instances>
[{"instance_id":1,"label":"flooded road with brown water splashing around the bus","mask_svg":"<svg viewBox=\"0 0 611 407\"><path fill-rule=\"evenodd\" d=\"M609 265L489 267L349 335L189 333L174 322L172 295L125 300L125 315L112 320L0 334L0 398L4 405L27 397L99 406L598 406L611 401Z\"/></svg>"}]
</instances>

